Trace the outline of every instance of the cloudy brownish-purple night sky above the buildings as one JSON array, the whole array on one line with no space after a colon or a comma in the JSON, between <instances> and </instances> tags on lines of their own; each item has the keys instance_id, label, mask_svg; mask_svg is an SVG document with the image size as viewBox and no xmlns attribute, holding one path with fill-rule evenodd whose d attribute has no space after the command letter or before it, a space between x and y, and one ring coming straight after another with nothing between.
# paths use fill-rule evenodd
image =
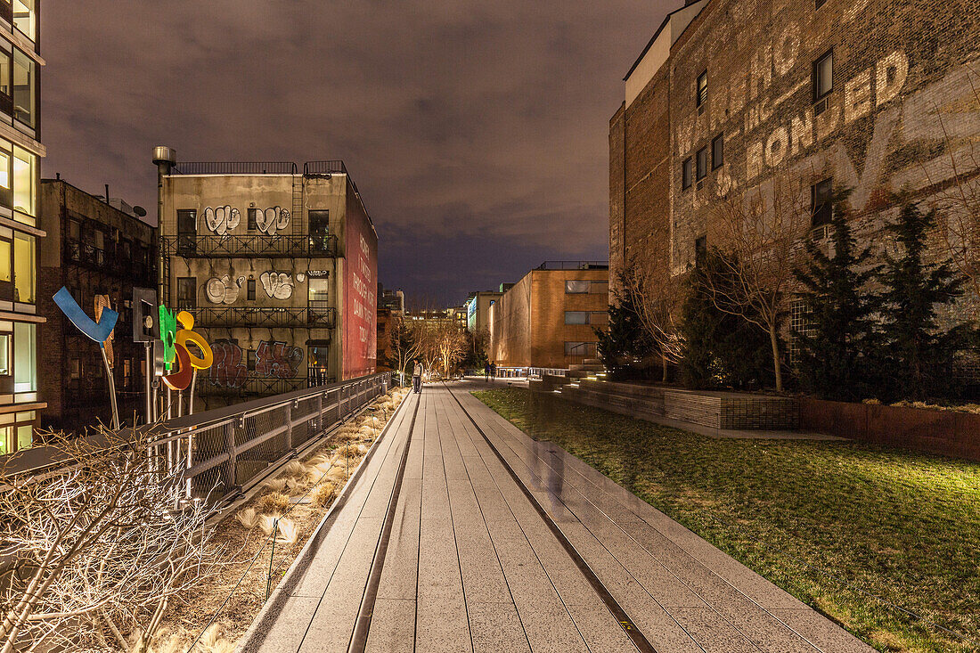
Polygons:
<instances>
[{"instance_id":1,"label":"cloudy brownish-purple night sky above the buildings","mask_svg":"<svg viewBox=\"0 0 980 653\"><path fill-rule=\"evenodd\" d=\"M183 161L343 159L432 305L608 258L609 120L681 0L42 0L43 176L156 217Z\"/></svg>"}]
</instances>

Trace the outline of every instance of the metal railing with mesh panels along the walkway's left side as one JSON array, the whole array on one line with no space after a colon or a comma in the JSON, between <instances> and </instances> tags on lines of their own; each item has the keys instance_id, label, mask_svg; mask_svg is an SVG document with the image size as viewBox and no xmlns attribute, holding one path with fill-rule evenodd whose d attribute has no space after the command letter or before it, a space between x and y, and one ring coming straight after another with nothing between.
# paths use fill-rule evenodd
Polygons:
<instances>
[{"instance_id":1,"label":"metal railing with mesh panels along the walkway's left side","mask_svg":"<svg viewBox=\"0 0 980 653\"><path fill-rule=\"evenodd\" d=\"M382 373L140 428L147 429L155 459L184 470L193 496L217 501L264 479L300 447L387 392L390 384L391 373ZM90 439L105 440L104 436ZM8 474L57 474L64 465L57 456L56 449L40 445L0 456L0 466L6 466Z\"/></svg>"}]
</instances>

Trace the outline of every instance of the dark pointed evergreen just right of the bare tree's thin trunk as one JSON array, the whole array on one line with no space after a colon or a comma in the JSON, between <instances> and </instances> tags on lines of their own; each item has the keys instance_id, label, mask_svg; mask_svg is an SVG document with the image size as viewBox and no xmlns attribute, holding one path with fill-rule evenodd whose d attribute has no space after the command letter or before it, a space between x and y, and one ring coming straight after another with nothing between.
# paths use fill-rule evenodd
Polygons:
<instances>
[{"instance_id":1,"label":"dark pointed evergreen just right of the bare tree's thin trunk","mask_svg":"<svg viewBox=\"0 0 980 653\"><path fill-rule=\"evenodd\" d=\"M834 198L830 226L833 254L812 236L809 261L796 271L808 328L795 331L800 347L798 372L804 390L824 399L854 401L868 390L868 355L873 349L875 297L866 291L874 275L866 269L870 251L857 251L849 223L847 193Z\"/></svg>"}]
</instances>

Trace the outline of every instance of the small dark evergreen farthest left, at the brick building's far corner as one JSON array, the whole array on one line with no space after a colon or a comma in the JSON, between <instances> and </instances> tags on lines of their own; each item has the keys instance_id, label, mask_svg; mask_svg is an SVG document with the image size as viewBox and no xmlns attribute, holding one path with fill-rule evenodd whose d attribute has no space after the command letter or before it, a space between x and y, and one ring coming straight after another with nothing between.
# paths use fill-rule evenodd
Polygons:
<instances>
[{"instance_id":1,"label":"small dark evergreen farthest left, at the brick building's far corner","mask_svg":"<svg viewBox=\"0 0 980 653\"><path fill-rule=\"evenodd\" d=\"M618 273L619 288L631 287L632 268ZM594 329L599 338L599 357L613 378L642 376L642 364L654 353L654 343L640 320L636 297L619 290L609 308L609 327Z\"/></svg>"}]
</instances>

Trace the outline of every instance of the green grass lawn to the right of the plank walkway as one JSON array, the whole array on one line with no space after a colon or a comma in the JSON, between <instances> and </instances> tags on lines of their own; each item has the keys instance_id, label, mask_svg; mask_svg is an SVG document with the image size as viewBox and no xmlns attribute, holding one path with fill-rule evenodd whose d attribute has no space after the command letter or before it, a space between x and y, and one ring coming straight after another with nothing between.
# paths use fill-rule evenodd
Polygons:
<instances>
[{"instance_id":1,"label":"green grass lawn to the right of the plank walkway","mask_svg":"<svg viewBox=\"0 0 980 653\"><path fill-rule=\"evenodd\" d=\"M980 650L980 464L848 441L713 439L551 394L474 394L878 650Z\"/></svg>"}]
</instances>

